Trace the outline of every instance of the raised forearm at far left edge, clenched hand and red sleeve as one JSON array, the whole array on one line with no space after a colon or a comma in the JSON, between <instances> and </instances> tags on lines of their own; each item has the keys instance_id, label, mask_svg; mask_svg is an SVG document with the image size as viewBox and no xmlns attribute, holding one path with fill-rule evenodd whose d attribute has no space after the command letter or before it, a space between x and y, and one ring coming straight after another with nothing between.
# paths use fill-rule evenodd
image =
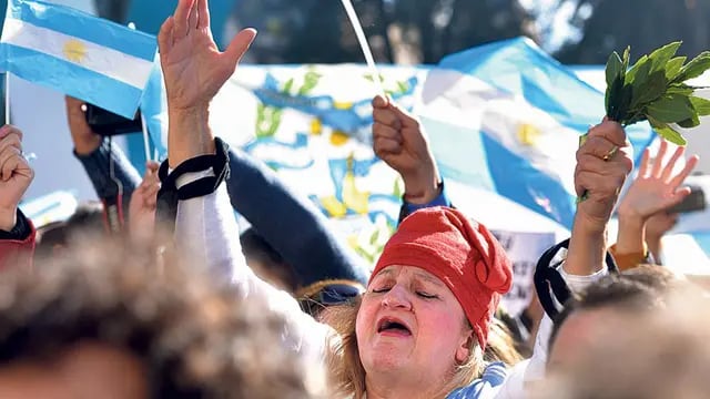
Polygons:
<instances>
[{"instance_id":1,"label":"raised forearm at far left edge, clenched hand and red sleeve","mask_svg":"<svg viewBox=\"0 0 710 399\"><path fill-rule=\"evenodd\" d=\"M0 127L0 269L32 264L34 227L18 205L33 177L22 154L22 132Z\"/></svg>"}]
</instances>

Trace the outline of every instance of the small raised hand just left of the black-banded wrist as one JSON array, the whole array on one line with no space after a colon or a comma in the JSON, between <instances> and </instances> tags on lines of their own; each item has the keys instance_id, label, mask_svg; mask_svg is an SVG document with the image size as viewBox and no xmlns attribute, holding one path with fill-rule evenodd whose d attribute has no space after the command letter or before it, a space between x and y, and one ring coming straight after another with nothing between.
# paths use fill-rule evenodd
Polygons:
<instances>
[{"instance_id":1,"label":"small raised hand just left of the black-banded wrist","mask_svg":"<svg viewBox=\"0 0 710 399\"><path fill-rule=\"evenodd\" d=\"M129 234L131 242L136 244L151 243L155 232L155 207L160 178L160 164L149 161L145 163L143 182L131 195L129 205Z\"/></svg>"}]
</instances>

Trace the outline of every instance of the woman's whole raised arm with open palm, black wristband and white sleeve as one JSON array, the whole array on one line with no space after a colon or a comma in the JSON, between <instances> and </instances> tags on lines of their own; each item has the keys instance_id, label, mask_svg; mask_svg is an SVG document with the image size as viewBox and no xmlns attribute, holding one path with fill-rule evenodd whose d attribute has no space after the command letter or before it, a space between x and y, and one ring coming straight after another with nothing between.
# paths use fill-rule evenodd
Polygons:
<instances>
[{"instance_id":1,"label":"woman's whole raised arm with open palm, black wristband and white sleeve","mask_svg":"<svg viewBox=\"0 0 710 399\"><path fill-rule=\"evenodd\" d=\"M267 303L286 318L286 345L306 359L322 359L328 328L302 313L286 293L256 278L244 262L236 222L221 184L229 170L226 151L215 143L209 125L210 101L234 73L255 34L252 29L241 31L221 52L210 33L206 0L180 0L174 16L161 28L158 40L170 117L168 164L171 175L178 174L169 181L181 200L176 247L216 273L229 273L227 278L244 296Z\"/></svg>"}]
</instances>

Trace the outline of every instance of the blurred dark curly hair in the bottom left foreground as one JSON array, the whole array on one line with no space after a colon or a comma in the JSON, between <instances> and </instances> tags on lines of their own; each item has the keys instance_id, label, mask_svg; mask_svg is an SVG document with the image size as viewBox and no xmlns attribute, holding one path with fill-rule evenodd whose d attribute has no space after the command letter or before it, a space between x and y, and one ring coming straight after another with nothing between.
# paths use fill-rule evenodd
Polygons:
<instances>
[{"instance_id":1,"label":"blurred dark curly hair in the bottom left foreground","mask_svg":"<svg viewBox=\"0 0 710 399\"><path fill-rule=\"evenodd\" d=\"M193 265L90 247L0 278L0 365L92 341L141 360L152 398L313 398L264 305Z\"/></svg>"}]
</instances>

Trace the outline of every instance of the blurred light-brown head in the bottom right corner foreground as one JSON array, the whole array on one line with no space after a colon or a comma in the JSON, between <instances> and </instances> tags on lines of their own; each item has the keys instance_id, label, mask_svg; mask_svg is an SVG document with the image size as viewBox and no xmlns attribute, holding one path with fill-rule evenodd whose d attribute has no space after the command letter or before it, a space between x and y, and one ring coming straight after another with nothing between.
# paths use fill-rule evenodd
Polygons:
<instances>
[{"instance_id":1,"label":"blurred light-brown head in the bottom right corner foreground","mask_svg":"<svg viewBox=\"0 0 710 399\"><path fill-rule=\"evenodd\" d=\"M673 291L662 307L609 315L596 339L534 398L707 398L709 306L706 295L689 289Z\"/></svg>"}]
</instances>

